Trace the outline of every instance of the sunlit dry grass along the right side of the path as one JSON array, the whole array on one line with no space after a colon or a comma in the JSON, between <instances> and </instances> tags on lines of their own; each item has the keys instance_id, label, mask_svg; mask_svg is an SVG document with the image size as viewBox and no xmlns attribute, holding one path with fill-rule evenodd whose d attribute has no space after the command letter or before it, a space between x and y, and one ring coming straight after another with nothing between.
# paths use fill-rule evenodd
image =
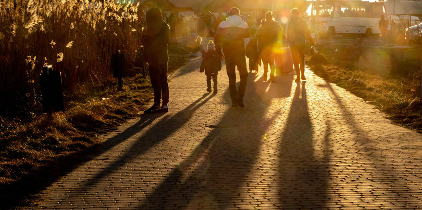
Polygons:
<instances>
[{"instance_id":1,"label":"sunlit dry grass along the right side of the path","mask_svg":"<svg viewBox=\"0 0 422 210\"><path fill-rule=\"evenodd\" d=\"M417 47L325 48L321 52L329 62L311 65L315 74L377 106L394 122L422 131L421 53Z\"/></svg>"}]
</instances>

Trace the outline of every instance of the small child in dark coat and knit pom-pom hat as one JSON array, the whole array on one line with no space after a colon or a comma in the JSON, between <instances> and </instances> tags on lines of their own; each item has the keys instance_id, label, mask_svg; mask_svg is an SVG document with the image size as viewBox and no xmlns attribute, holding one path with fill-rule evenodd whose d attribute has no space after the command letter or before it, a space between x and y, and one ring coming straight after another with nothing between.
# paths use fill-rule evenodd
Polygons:
<instances>
[{"instance_id":1,"label":"small child in dark coat and knit pom-pom hat","mask_svg":"<svg viewBox=\"0 0 422 210\"><path fill-rule=\"evenodd\" d=\"M221 70L221 59L218 53L215 51L215 44L212 40L207 45L207 52L201 62L201 68L199 72L204 72L207 76L207 92L211 93L211 79L214 83L214 94L217 93L217 75Z\"/></svg>"}]
</instances>

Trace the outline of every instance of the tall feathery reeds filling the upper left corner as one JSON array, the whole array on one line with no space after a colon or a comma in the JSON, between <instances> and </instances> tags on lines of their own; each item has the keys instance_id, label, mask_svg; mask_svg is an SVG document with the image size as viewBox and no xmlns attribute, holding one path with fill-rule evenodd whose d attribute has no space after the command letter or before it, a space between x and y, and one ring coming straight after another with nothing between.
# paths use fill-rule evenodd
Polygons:
<instances>
[{"instance_id":1,"label":"tall feathery reeds filling the upper left corner","mask_svg":"<svg viewBox=\"0 0 422 210\"><path fill-rule=\"evenodd\" d=\"M116 50L133 62L144 11L114 1L0 1L0 115L40 110L39 74L62 72L67 97L112 77Z\"/></svg>"}]
</instances>

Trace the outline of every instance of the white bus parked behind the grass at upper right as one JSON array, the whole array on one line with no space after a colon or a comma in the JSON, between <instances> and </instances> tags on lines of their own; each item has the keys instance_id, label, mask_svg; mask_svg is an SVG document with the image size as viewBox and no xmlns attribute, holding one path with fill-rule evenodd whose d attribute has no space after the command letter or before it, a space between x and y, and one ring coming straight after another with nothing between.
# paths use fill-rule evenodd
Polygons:
<instances>
[{"instance_id":1,"label":"white bus parked behind the grass at upper right","mask_svg":"<svg viewBox=\"0 0 422 210\"><path fill-rule=\"evenodd\" d=\"M316 2L313 1L304 17L312 29L316 23ZM382 3L362 1L319 1L319 33L335 34L380 34L378 22L386 17ZM387 18L387 17L386 17Z\"/></svg>"}]
</instances>

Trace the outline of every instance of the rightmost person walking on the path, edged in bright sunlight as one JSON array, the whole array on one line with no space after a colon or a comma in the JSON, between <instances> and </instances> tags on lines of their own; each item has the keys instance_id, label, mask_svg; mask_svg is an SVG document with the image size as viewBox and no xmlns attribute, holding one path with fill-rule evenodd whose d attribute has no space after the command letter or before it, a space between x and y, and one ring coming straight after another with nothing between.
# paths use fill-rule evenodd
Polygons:
<instances>
[{"instance_id":1,"label":"rightmost person walking on the path, edged in bright sunlight","mask_svg":"<svg viewBox=\"0 0 422 210\"><path fill-rule=\"evenodd\" d=\"M292 52L293 64L296 70L296 82L300 82L305 78L305 47L306 39L315 46L308 23L299 17L299 9L293 8L290 11L291 18L287 24L287 42Z\"/></svg>"}]
</instances>

